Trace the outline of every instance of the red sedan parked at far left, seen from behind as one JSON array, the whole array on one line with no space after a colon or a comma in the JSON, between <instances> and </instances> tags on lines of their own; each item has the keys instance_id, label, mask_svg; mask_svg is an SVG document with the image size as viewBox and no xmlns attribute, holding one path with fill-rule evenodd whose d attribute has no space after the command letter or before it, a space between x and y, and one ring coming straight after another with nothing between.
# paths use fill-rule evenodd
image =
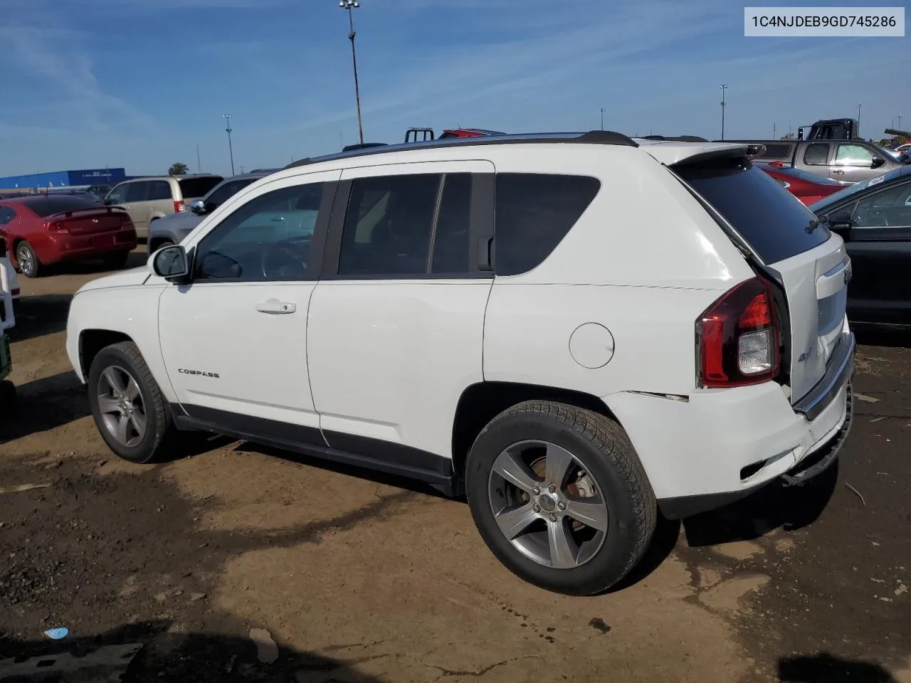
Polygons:
<instances>
[{"instance_id":1,"label":"red sedan parked at far left, seen from behind","mask_svg":"<svg viewBox=\"0 0 911 683\"><path fill-rule=\"evenodd\" d=\"M33 195L0 200L0 237L16 270L35 278L52 263L104 260L123 268L136 249L129 214L74 195Z\"/></svg>"}]
</instances>

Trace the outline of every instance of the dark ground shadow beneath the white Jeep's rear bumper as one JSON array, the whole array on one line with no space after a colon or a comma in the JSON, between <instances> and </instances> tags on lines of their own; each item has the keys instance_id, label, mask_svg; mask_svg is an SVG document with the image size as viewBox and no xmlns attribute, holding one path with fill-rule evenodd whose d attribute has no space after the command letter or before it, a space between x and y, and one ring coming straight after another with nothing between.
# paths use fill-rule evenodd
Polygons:
<instances>
[{"instance_id":1,"label":"dark ground shadow beneath the white Jeep's rear bumper","mask_svg":"<svg viewBox=\"0 0 911 683\"><path fill-rule=\"evenodd\" d=\"M752 541L779 527L793 531L822 515L838 481L838 461L800 486L773 482L755 494L718 510L683 520L691 547Z\"/></svg>"}]
</instances>

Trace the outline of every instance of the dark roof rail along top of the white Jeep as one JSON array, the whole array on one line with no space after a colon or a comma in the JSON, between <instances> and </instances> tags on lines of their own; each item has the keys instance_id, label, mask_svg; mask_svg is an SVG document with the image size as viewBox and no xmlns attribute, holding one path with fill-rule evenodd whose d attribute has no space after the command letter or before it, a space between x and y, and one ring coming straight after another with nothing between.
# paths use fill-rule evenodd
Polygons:
<instances>
[{"instance_id":1,"label":"dark roof rail along top of the white Jeep","mask_svg":"<svg viewBox=\"0 0 911 683\"><path fill-rule=\"evenodd\" d=\"M389 152L405 152L418 149L437 149L447 147L479 146L479 145L509 145L528 143L578 143L589 145L621 145L625 147L639 147L639 144L629 136L615 133L612 130L589 130L588 133L511 133L507 135L476 136L474 138L445 138L421 142L406 142L381 147L353 149L348 152L327 154L322 157L308 157L298 159L284 168L298 168L322 161L333 161L342 158L367 157L373 154L386 154Z\"/></svg>"}]
</instances>

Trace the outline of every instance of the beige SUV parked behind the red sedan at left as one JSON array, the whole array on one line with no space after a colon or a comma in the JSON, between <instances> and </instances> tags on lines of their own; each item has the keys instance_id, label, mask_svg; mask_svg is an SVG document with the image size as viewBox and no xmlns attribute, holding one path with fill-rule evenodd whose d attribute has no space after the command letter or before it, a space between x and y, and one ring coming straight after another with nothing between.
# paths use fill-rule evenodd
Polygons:
<instances>
[{"instance_id":1,"label":"beige SUV parked behind the red sedan at left","mask_svg":"<svg viewBox=\"0 0 911 683\"><path fill-rule=\"evenodd\" d=\"M126 209L136 226L137 237L148 238L148 227L153 220L186 211L193 199L204 196L223 179L210 173L134 178L116 185L102 203Z\"/></svg>"}]
</instances>

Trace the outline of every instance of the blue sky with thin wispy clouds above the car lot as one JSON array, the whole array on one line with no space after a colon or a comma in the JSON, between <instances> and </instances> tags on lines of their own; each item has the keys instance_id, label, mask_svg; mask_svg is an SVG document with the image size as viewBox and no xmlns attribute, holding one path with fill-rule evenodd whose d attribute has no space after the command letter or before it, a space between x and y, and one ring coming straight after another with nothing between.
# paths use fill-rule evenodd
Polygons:
<instances>
[{"instance_id":1,"label":"blue sky with thin wispy clouds above the car lot","mask_svg":"<svg viewBox=\"0 0 911 683\"><path fill-rule=\"evenodd\" d=\"M909 38L745 38L731 0L361 0L364 138L410 126L771 137L911 127ZM776 5L832 5L784 3ZM849 5L884 5L855 2ZM335 0L0 0L0 175L282 166L357 141Z\"/></svg>"}]
</instances>

